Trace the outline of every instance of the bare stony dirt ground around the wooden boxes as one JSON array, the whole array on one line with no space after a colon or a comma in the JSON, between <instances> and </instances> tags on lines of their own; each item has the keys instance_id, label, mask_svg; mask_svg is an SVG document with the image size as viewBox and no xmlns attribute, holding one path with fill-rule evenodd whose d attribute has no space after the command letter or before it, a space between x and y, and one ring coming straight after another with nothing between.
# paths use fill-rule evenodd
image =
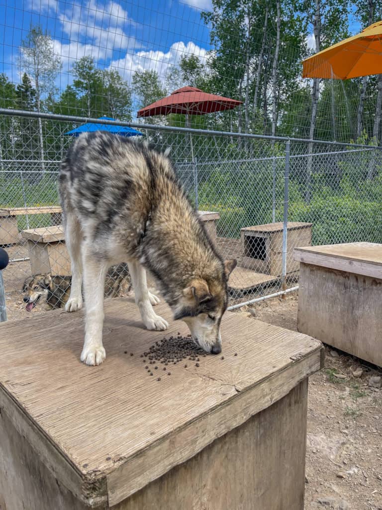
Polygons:
<instances>
[{"instance_id":1,"label":"bare stony dirt ground around the wooden boxes","mask_svg":"<svg viewBox=\"0 0 382 510\"><path fill-rule=\"evenodd\" d=\"M28 257L28 250L18 245L9 254ZM25 310L21 288L29 264L4 271L9 319L47 310L40 303ZM297 294L236 313L296 330ZM328 346L325 352L324 369L309 381L305 510L382 510L382 389L368 385L382 370Z\"/></svg>"}]
</instances>

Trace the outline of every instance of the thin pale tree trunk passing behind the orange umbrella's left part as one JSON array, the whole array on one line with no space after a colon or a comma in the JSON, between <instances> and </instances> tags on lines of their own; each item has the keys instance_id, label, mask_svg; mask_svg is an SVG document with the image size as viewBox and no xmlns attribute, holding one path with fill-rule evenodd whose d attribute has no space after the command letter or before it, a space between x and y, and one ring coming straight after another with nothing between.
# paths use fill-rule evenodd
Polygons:
<instances>
[{"instance_id":1,"label":"thin pale tree trunk passing behind the orange umbrella's left part","mask_svg":"<svg viewBox=\"0 0 382 510\"><path fill-rule=\"evenodd\" d=\"M314 13L314 21L313 21L313 33L314 39L316 43L316 52L320 50L320 38L321 38L321 18L320 18L320 0L316 0L316 10ZM313 140L314 131L316 129L316 119L317 119L317 106L318 106L318 97L320 93L320 79L313 79L313 87L312 87L312 115L310 118L310 129L309 129L309 139ZM313 164L313 142L309 142L308 144L308 162L307 162L307 175L306 175L306 185L305 185L305 200L307 203L310 202L311 198L311 181L312 181L312 164Z\"/></svg>"}]
</instances>

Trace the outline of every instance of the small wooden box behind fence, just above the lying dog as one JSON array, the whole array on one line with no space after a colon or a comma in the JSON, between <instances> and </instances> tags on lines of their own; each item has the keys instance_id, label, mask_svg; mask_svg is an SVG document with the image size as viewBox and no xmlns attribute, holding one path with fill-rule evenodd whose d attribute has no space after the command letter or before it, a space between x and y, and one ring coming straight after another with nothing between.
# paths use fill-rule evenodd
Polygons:
<instances>
[{"instance_id":1,"label":"small wooden box behind fence, just above the lying dog","mask_svg":"<svg viewBox=\"0 0 382 510\"><path fill-rule=\"evenodd\" d=\"M61 225L23 230L21 237L28 240L32 274L71 274L70 257Z\"/></svg>"}]
</instances>

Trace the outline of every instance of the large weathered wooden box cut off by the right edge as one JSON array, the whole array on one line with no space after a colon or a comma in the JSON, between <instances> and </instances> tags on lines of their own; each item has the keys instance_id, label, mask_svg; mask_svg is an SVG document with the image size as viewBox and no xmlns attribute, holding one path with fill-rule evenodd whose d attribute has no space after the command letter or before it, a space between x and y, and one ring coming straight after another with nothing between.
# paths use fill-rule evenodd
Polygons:
<instances>
[{"instance_id":1,"label":"large weathered wooden box cut off by the right edge","mask_svg":"<svg viewBox=\"0 0 382 510\"><path fill-rule=\"evenodd\" d=\"M298 330L382 366L382 244L296 248Z\"/></svg>"}]
</instances>

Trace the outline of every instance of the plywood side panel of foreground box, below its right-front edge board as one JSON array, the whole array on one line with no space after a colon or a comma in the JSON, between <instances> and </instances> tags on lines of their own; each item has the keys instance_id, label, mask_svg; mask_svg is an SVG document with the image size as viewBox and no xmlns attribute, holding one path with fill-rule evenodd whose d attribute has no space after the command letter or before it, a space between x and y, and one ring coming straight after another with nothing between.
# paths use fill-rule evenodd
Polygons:
<instances>
[{"instance_id":1,"label":"plywood side panel of foreground box, below its right-front edge board","mask_svg":"<svg viewBox=\"0 0 382 510\"><path fill-rule=\"evenodd\" d=\"M114 510L303 510L307 380Z\"/></svg>"}]
</instances>

